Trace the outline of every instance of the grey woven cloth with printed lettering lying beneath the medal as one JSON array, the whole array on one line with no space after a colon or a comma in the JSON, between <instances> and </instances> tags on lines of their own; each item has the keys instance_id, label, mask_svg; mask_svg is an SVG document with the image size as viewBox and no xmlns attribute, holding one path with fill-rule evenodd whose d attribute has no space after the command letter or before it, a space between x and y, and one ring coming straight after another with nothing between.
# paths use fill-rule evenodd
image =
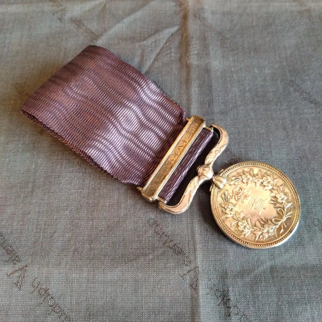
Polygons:
<instances>
[{"instance_id":1,"label":"grey woven cloth with printed lettering lying beneath the medal","mask_svg":"<svg viewBox=\"0 0 322 322\"><path fill-rule=\"evenodd\" d=\"M1 1L0 321L321 321L321 17L301 0ZM161 212L27 119L26 99L90 44L228 131L215 171L254 160L288 175L294 235L239 246L209 185Z\"/></svg>"}]
</instances>

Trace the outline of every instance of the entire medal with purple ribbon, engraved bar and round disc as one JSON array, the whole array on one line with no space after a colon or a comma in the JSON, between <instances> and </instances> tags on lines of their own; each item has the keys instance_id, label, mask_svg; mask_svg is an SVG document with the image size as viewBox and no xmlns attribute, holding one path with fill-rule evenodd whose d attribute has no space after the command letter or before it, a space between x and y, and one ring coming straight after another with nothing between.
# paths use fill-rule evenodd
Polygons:
<instances>
[{"instance_id":1,"label":"entire medal with purple ribbon, engraved bar and round disc","mask_svg":"<svg viewBox=\"0 0 322 322\"><path fill-rule=\"evenodd\" d=\"M222 127L207 126L145 75L108 50L89 46L24 103L22 111L75 152L172 214L184 212L198 187L211 183L211 208L222 231L251 248L286 241L300 215L298 194L276 168L243 162L213 172L228 144ZM167 202L204 147L219 140L177 205Z\"/></svg>"}]
</instances>

